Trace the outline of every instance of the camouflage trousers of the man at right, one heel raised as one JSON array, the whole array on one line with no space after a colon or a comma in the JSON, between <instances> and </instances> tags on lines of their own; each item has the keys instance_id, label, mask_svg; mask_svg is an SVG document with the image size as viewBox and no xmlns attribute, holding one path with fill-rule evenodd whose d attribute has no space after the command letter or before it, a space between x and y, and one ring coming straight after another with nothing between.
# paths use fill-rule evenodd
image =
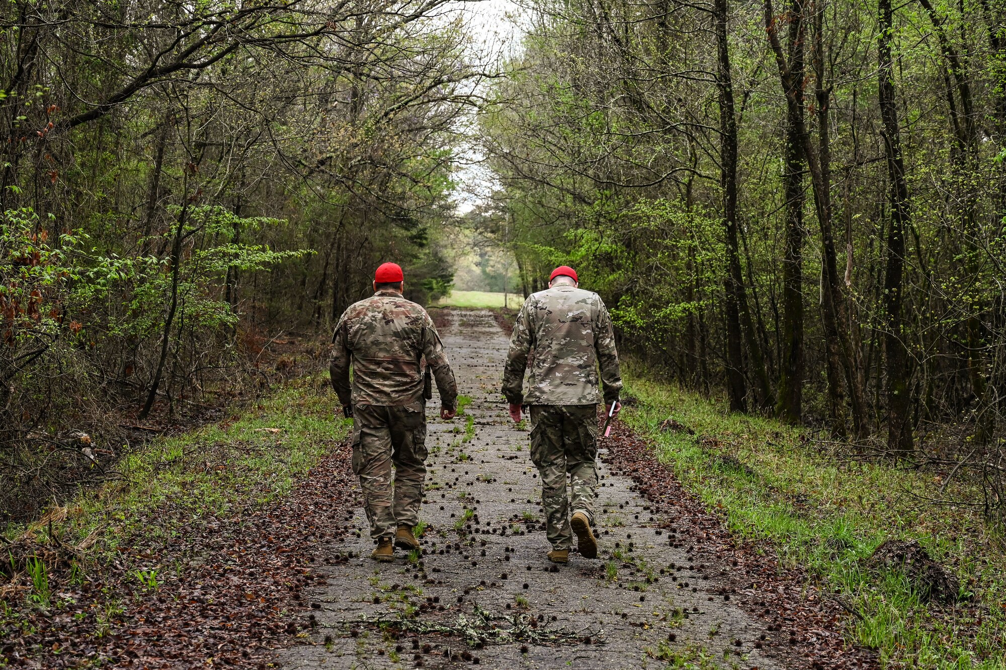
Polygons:
<instances>
[{"instance_id":1,"label":"camouflage trousers of the man at right, one heel raised","mask_svg":"<svg viewBox=\"0 0 1006 670\"><path fill-rule=\"evenodd\" d=\"M572 487L572 511L594 523L598 486L598 407L594 404L531 406L531 462L541 475L541 502L548 541L555 549L572 546L566 474Z\"/></svg>"}]
</instances>

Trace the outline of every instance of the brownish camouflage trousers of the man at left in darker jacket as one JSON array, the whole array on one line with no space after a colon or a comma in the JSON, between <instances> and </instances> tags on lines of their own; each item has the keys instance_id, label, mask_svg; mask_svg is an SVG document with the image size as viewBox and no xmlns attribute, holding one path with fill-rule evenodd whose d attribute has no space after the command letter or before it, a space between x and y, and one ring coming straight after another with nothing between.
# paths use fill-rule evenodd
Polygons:
<instances>
[{"instance_id":1,"label":"brownish camouflage trousers of the man at left in darker jacket","mask_svg":"<svg viewBox=\"0 0 1006 670\"><path fill-rule=\"evenodd\" d=\"M427 416L422 405L353 407L353 472L360 478L371 537L392 537L396 526L420 522L426 442Z\"/></svg>"}]
</instances>

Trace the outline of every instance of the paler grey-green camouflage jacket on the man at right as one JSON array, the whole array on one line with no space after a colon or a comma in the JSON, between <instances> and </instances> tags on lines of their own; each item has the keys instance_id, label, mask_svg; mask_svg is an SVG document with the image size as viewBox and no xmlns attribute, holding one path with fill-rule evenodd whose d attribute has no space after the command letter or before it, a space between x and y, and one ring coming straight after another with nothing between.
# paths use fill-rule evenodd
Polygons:
<instances>
[{"instance_id":1,"label":"paler grey-green camouflage jacket on the man at right","mask_svg":"<svg viewBox=\"0 0 1006 670\"><path fill-rule=\"evenodd\" d=\"M530 360L529 390L522 392ZM595 404L598 367L605 401L622 390L612 319L601 296L558 285L524 301L510 338L503 394L513 404Z\"/></svg>"}]
</instances>

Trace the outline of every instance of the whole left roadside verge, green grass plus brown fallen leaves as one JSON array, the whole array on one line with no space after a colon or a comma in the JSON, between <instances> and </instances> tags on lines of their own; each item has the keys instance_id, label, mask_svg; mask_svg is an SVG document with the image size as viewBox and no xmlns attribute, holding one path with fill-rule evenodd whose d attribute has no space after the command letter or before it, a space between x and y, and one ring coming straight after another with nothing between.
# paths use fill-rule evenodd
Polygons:
<instances>
[{"instance_id":1,"label":"whole left roadside verge, green grass plus brown fallen leaves","mask_svg":"<svg viewBox=\"0 0 1006 670\"><path fill-rule=\"evenodd\" d=\"M321 389L297 380L155 440L119 479L8 530L0 668L265 667L299 633L312 544L348 532L348 427Z\"/></svg>"}]
</instances>

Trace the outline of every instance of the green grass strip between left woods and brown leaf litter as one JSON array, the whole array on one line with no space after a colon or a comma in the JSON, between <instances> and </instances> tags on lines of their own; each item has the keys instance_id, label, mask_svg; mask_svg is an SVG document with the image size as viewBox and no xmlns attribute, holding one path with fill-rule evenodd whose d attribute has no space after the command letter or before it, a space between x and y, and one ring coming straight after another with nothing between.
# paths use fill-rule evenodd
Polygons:
<instances>
[{"instance_id":1,"label":"green grass strip between left woods and brown leaf litter","mask_svg":"<svg viewBox=\"0 0 1006 670\"><path fill-rule=\"evenodd\" d=\"M228 517L282 496L348 433L350 422L333 420L336 403L321 384L298 379L222 422L154 440L119 464L120 478L6 536L27 534L43 549L77 545L100 560L138 536L170 538L183 532L176 523ZM173 513L160 514L166 507Z\"/></svg>"}]
</instances>

